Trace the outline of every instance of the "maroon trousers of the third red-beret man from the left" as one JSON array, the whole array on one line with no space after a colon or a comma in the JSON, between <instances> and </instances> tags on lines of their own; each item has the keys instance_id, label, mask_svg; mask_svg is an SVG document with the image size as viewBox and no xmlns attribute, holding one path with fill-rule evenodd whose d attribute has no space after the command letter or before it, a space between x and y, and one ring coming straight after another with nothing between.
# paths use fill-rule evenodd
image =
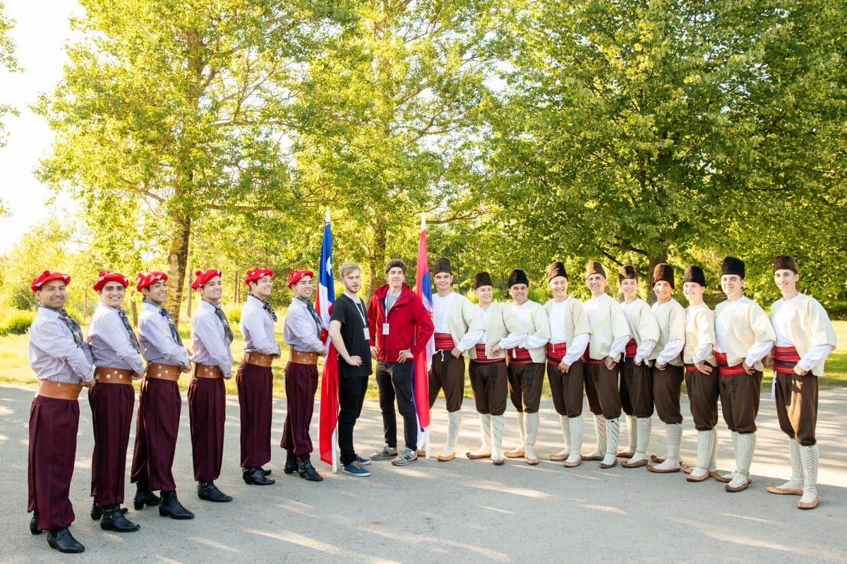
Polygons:
<instances>
[{"instance_id":1,"label":"maroon trousers of the third red-beret man from the left","mask_svg":"<svg viewBox=\"0 0 847 564\"><path fill-rule=\"evenodd\" d=\"M180 386L173 380L145 377L141 381L130 482L176 491L172 468L181 407Z\"/></svg>"}]
</instances>

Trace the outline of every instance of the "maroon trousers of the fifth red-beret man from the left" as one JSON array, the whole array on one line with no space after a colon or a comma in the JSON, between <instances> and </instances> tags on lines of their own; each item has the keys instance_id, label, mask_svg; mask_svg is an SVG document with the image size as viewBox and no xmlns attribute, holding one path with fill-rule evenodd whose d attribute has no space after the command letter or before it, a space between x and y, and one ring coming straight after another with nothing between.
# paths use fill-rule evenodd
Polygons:
<instances>
[{"instance_id":1,"label":"maroon trousers of the fifth red-beret man from the left","mask_svg":"<svg viewBox=\"0 0 847 564\"><path fill-rule=\"evenodd\" d=\"M241 406L241 467L261 467L270 462L274 374L269 366L241 362L235 387Z\"/></svg>"}]
</instances>

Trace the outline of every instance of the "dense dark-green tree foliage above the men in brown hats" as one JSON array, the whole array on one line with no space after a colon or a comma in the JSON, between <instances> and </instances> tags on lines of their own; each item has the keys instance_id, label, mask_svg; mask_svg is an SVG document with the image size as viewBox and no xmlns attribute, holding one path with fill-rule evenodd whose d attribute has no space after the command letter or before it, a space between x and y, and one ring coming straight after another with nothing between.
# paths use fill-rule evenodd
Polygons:
<instances>
[{"instance_id":1,"label":"dense dark-green tree foliage above the men in brown hats","mask_svg":"<svg viewBox=\"0 0 847 564\"><path fill-rule=\"evenodd\" d=\"M495 224L535 269L605 258L648 274L709 251L706 266L764 268L811 248L843 262L843 229L797 236L819 213L843 225L844 7L523 4L483 156Z\"/></svg>"}]
</instances>

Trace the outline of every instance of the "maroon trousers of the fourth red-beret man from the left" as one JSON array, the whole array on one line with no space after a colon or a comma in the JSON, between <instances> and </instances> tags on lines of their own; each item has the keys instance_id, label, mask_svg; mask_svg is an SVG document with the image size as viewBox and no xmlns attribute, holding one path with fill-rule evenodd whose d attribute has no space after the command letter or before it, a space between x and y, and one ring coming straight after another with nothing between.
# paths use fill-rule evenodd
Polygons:
<instances>
[{"instance_id":1,"label":"maroon trousers of the fourth red-beret man from the left","mask_svg":"<svg viewBox=\"0 0 847 564\"><path fill-rule=\"evenodd\" d=\"M191 458L194 479L212 482L220 476L224 460L226 392L223 378L192 378L188 386L191 422Z\"/></svg>"}]
</instances>

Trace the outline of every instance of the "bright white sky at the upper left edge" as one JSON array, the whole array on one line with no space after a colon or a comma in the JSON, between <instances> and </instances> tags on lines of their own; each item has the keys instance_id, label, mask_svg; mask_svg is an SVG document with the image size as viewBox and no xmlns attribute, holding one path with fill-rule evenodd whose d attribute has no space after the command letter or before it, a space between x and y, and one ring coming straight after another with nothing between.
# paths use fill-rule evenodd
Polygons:
<instances>
[{"instance_id":1,"label":"bright white sky at the upper left edge","mask_svg":"<svg viewBox=\"0 0 847 564\"><path fill-rule=\"evenodd\" d=\"M68 18L80 14L76 0L0 0L4 14L14 19L12 38L23 73L0 70L0 100L19 109L19 117L3 119L8 134L0 147L0 198L12 213L0 218L0 253L19 240L33 224L68 204L47 207L47 190L32 174L50 148L53 135L47 122L28 108L40 92L47 92L62 76L64 43L69 36Z\"/></svg>"}]
</instances>

